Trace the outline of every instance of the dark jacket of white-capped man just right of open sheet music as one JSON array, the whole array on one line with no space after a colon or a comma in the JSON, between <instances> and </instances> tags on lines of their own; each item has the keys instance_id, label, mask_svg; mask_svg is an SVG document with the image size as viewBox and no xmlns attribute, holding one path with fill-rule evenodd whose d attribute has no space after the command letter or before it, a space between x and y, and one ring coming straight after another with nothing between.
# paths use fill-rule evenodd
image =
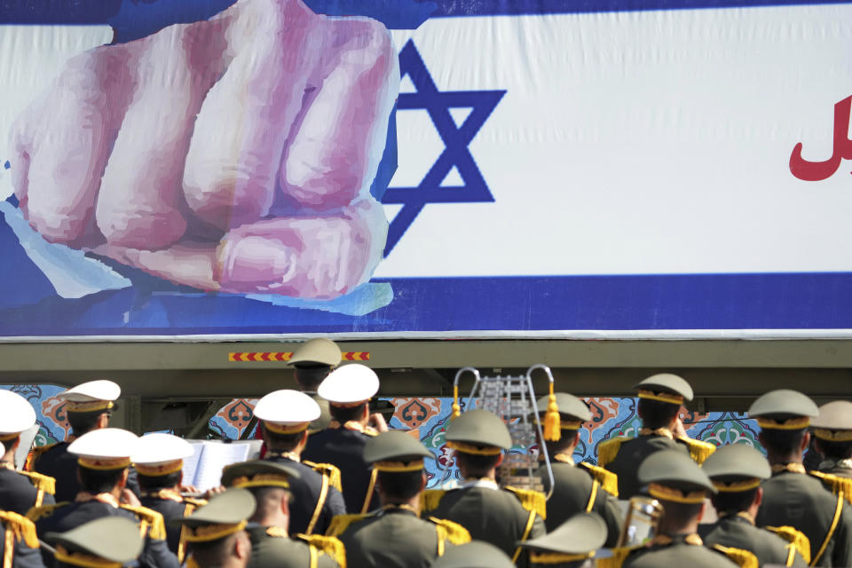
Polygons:
<instances>
[{"instance_id":1,"label":"dark jacket of white-capped man just right of open sheet music","mask_svg":"<svg viewBox=\"0 0 852 568\"><path fill-rule=\"evenodd\" d=\"M290 493L293 493L293 499L290 501L289 532L291 534L307 534L314 515L317 515L317 520L311 527L311 534L325 534L332 517L346 513L343 495L329 485L328 479L325 480L327 489L323 491L323 475L311 466L274 452L266 454L264 459L286 465L299 472L298 478L293 477L289 481Z\"/></svg>"}]
</instances>

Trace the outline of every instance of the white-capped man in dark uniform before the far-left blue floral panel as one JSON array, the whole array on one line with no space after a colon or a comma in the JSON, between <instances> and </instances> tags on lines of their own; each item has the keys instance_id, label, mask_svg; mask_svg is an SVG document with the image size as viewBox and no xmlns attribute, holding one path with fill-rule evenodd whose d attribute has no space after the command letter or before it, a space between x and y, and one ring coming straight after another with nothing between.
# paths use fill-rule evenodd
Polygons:
<instances>
[{"instance_id":1,"label":"white-capped man in dark uniform before the far-left blue floral panel","mask_svg":"<svg viewBox=\"0 0 852 568\"><path fill-rule=\"evenodd\" d=\"M74 501L80 491L75 473L77 457L68 454L68 446L75 438L91 430L106 428L115 400L121 395L122 388L106 379L78 384L57 395L57 398L65 400L65 413L72 434L64 442L36 447L32 467L34 471L56 479L56 501ZM134 475L131 477L130 489L138 492L135 484Z\"/></svg>"}]
</instances>

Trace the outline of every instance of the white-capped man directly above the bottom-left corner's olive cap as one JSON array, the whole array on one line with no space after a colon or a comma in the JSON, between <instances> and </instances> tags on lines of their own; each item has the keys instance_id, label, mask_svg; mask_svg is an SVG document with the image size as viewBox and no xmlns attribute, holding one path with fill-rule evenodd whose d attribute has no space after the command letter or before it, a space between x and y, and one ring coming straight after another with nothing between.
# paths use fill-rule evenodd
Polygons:
<instances>
[{"instance_id":1,"label":"white-capped man directly above the bottom-left corner's olive cap","mask_svg":"<svg viewBox=\"0 0 852 568\"><path fill-rule=\"evenodd\" d=\"M93 430L76 438L68 446L68 454L77 457L81 491L74 502L30 509L28 517L36 523L38 533L64 533L96 518L126 517L140 523L146 533L139 564L177 568L177 556L166 543L162 515L139 506L136 496L126 489L130 455L137 443L135 434L119 428ZM53 564L52 558L45 557L45 564Z\"/></svg>"}]
</instances>

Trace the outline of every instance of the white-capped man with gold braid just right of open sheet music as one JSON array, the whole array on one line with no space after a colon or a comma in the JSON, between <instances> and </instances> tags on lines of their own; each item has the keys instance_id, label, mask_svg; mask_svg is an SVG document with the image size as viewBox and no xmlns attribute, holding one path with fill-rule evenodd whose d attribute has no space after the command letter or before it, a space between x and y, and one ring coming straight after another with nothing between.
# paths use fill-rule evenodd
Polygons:
<instances>
[{"instance_id":1,"label":"white-capped man with gold braid just right of open sheet music","mask_svg":"<svg viewBox=\"0 0 852 568\"><path fill-rule=\"evenodd\" d=\"M340 470L328 463L304 461L308 428L319 416L313 398L298 390L276 390L257 401L255 415L266 444L265 460L296 470L290 480L291 533L323 534L346 506L340 493Z\"/></svg>"}]
</instances>

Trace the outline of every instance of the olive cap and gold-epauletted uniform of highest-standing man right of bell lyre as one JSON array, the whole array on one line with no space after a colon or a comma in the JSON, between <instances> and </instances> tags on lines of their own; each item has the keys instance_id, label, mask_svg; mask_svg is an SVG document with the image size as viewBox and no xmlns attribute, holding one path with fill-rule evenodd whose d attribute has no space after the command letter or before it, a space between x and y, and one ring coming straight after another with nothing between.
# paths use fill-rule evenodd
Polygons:
<instances>
[{"instance_id":1,"label":"olive cap and gold-epauletted uniform of highest-standing man right of bell lyre","mask_svg":"<svg viewBox=\"0 0 852 568\"><path fill-rule=\"evenodd\" d=\"M638 397L676 405L692 400L692 387L677 375L653 375L634 386ZM690 455L700 464L713 453L715 446L691 438L675 438L671 430L659 428L639 430L638 438L613 438L598 445L597 464L619 477L619 499L630 499L642 486L636 478L636 464L661 450L675 450Z\"/></svg>"}]
</instances>

